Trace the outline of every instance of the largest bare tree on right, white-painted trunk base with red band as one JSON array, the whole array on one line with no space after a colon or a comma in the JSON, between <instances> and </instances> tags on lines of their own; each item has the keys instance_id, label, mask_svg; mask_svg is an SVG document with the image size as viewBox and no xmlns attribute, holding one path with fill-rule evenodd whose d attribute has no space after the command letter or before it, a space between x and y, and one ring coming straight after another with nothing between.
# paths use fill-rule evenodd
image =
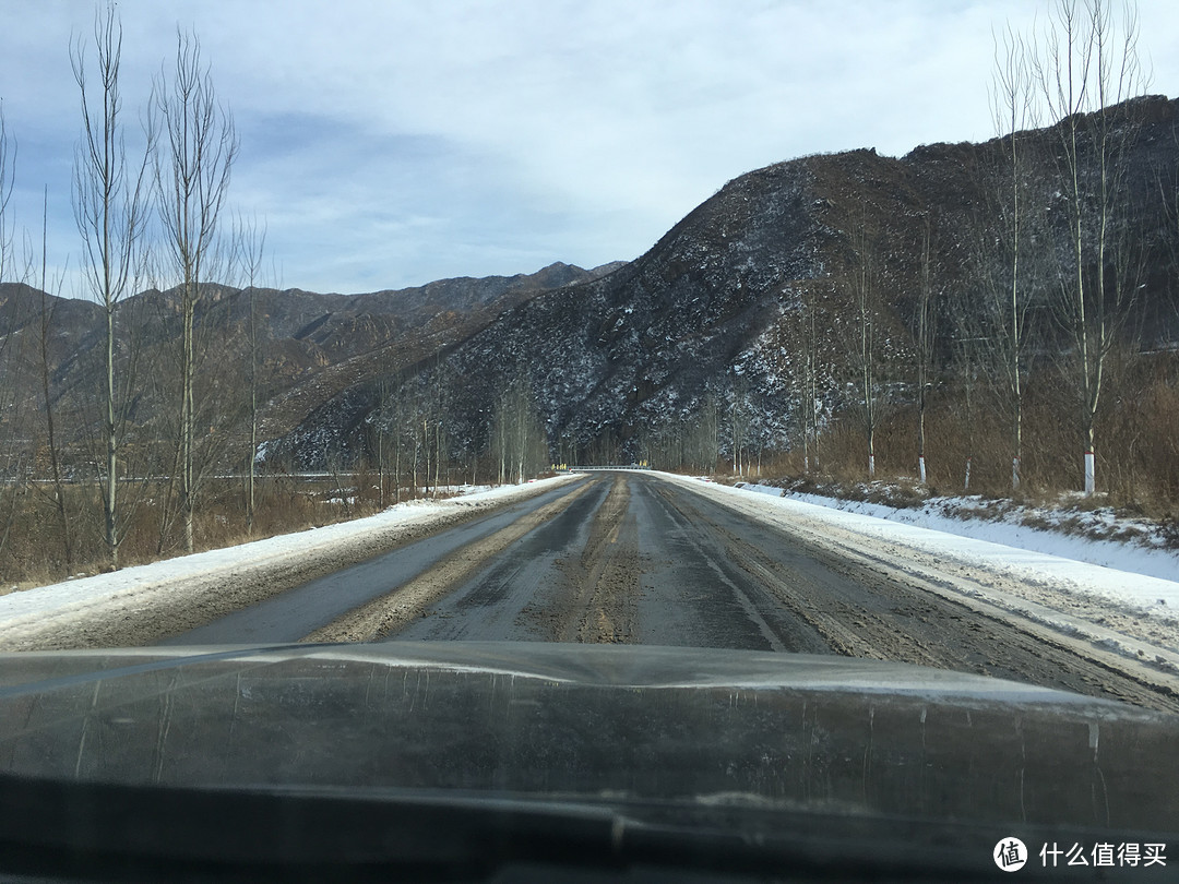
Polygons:
<instances>
[{"instance_id":1,"label":"largest bare tree on right, white-painted trunk base with red band","mask_svg":"<svg viewBox=\"0 0 1179 884\"><path fill-rule=\"evenodd\" d=\"M1060 316L1073 337L1071 375L1080 394L1085 493L1096 482L1096 415L1107 357L1118 341L1137 263L1119 236L1127 191L1125 154L1135 136L1115 105L1141 94L1138 19L1126 4L1115 17L1108 0L1056 0L1034 68L1045 106L1060 123L1061 190L1067 204L1069 262L1060 273ZM1088 116L1086 116L1088 114Z\"/></svg>"}]
</instances>

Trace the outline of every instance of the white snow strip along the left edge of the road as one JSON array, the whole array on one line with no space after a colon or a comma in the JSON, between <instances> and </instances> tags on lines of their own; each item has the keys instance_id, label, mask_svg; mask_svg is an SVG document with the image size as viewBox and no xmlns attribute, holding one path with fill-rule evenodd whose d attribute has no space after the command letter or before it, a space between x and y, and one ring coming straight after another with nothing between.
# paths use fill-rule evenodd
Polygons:
<instances>
[{"instance_id":1,"label":"white snow strip along the left edge of the road","mask_svg":"<svg viewBox=\"0 0 1179 884\"><path fill-rule=\"evenodd\" d=\"M223 549L182 555L174 559L124 568L108 574L67 580L61 583L34 587L0 595L0 628L14 621L58 614L70 609L98 609L111 602L133 605L136 596L146 598L160 589L216 578L235 575L258 566L281 565L309 553L343 543L355 545L365 536L374 539L390 528L430 523L447 514L467 507L492 506L515 497L533 496L568 476L555 476L525 486L501 486L492 489L472 489L474 493L437 501L413 500L389 507L376 515L337 522L322 528L309 528L294 534L281 534ZM486 487L482 487L486 488Z\"/></svg>"}]
</instances>

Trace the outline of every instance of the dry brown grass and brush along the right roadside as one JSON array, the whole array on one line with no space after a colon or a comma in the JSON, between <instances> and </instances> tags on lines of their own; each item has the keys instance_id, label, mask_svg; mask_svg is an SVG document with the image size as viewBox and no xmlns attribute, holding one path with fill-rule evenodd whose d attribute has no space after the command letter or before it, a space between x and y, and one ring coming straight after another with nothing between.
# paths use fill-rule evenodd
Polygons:
<instances>
[{"instance_id":1,"label":"dry brown grass and brush along the right roadside","mask_svg":"<svg viewBox=\"0 0 1179 884\"><path fill-rule=\"evenodd\" d=\"M876 428L876 483L869 483L864 430L851 415L825 428L817 468L814 448L809 470L803 453L795 450L766 461L760 479L889 506L918 506L930 495L969 493L1033 506L1112 507L1179 534L1179 355L1144 356L1108 372L1096 423L1098 494L1092 497L1079 494L1082 435L1076 409L1071 408L1074 398L1053 369L1028 380L1022 484L1014 494L1013 447L1003 409L994 398L975 394L968 411L955 390L930 397L924 488L917 482L915 407L894 407L882 415Z\"/></svg>"}]
</instances>

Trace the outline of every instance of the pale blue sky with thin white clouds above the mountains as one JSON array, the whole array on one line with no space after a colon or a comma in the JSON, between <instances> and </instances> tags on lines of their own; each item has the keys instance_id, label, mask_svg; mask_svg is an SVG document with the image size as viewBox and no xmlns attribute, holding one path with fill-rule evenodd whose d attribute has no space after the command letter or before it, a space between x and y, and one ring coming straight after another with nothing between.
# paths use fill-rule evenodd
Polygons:
<instances>
[{"instance_id":1,"label":"pale blue sky with thin white clouds above the mountains","mask_svg":"<svg viewBox=\"0 0 1179 884\"><path fill-rule=\"evenodd\" d=\"M104 4L105 6L105 4ZM994 33L1049 0L120 0L129 154L192 31L241 150L223 218L263 279L365 292L630 260L727 180L812 153L994 134ZM7 223L86 297L72 40L90 0L0 0ZM1139 0L1148 91L1179 97L1179 4ZM93 47L88 47L93 59ZM223 224L228 229L228 223ZM8 273L12 277L12 272Z\"/></svg>"}]
</instances>

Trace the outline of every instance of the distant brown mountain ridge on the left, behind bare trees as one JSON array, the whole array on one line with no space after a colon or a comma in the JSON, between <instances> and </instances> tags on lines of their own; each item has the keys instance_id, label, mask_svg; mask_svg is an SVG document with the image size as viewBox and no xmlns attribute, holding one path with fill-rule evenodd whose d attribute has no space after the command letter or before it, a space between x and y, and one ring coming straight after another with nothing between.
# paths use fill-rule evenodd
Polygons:
<instances>
[{"instance_id":1,"label":"distant brown mountain ridge on the left, behind bare trees","mask_svg":"<svg viewBox=\"0 0 1179 884\"><path fill-rule=\"evenodd\" d=\"M534 273L441 279L364 295L206 285L198 325L216 339L206 371L236 368L241 382L252 309L265 389L262 433L282 435L357 381L453 345L540 291L593 279L617 266L582 270L555 263ZM140 365L167 363L177 314L177 290L125 298L117 311L124 356L126 341L133 337ZM59 409L78 414L87 408L104 345L98 304L46 295L22 283L0 284L0 358L9 359L5 389L24 403L20 411L33 422L44 400L39 392L42 315L50 317L51 402ZM138 420L144 423L165 407L166 391L153 389L156 380L139 384Z\"/></svg>"}]
</instances>

